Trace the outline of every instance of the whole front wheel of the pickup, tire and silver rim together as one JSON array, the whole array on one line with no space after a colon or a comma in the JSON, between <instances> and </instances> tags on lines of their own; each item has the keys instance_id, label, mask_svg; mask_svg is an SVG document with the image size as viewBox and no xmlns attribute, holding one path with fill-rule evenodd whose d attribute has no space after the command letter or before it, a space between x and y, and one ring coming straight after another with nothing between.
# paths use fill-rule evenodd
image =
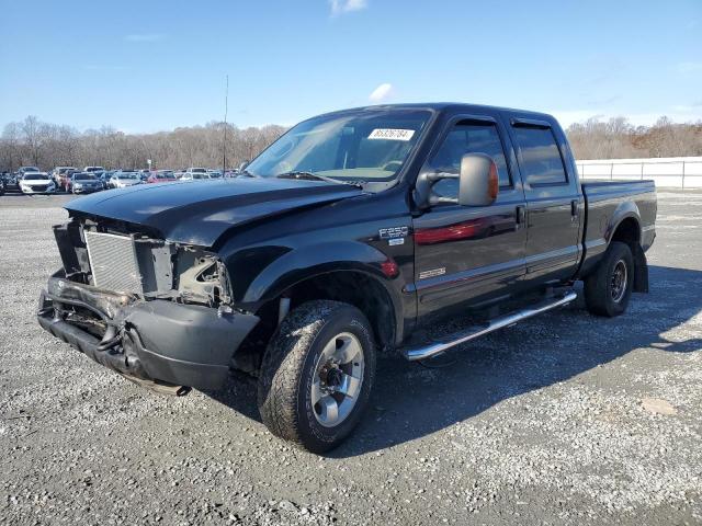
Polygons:
<instances>
[{"instance_id":1,"label":"whole front wheel of the pickup, tire and silver rim together","mask_svg":"<svg viewBox=\"0 0 702 526\"><path fill-rule=\"evenodd\" d=\"M274 435L313 453L343 442L375 377L370 323L351 305L316 300L294 309L263 356L258 405Z\"/></svg>"}]
</instances>

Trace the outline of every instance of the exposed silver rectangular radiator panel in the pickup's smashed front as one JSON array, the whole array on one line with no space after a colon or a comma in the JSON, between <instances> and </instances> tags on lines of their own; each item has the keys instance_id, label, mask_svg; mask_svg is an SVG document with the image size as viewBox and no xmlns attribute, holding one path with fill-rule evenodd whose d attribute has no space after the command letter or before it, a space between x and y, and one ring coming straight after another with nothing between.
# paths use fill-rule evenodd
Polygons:
<instances>
[{"instance_id":1,"label":"exposed silver rectangular radiator panel in the pickup's smashed front","mask_svg":"<svg viewBox=\"0 0 702 526\"><path fill-rule=\"evenodd\" d=\"M87 231L86 244L94 286L118 293L144 291L134 239Z\"/></svg>"}]
</instances>

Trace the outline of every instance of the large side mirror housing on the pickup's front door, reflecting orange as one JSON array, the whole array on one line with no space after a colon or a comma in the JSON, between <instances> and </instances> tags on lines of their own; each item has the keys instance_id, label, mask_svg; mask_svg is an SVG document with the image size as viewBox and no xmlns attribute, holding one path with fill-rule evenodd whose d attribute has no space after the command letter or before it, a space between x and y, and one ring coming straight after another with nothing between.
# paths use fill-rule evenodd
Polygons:
<instances>
[{"instance_id":1,"label":"large side mirror housing on the pickup's front door, reflecting orange","mask_svg":"<svg viewBox=\"0 0 702 526\"><path fill-rule=\"evenodd\" d=\"M497 198L499 182L497 165L485 153L466 153L461 158L458 204L461 206L489 206Z\"/></svg>"}]
</instances>

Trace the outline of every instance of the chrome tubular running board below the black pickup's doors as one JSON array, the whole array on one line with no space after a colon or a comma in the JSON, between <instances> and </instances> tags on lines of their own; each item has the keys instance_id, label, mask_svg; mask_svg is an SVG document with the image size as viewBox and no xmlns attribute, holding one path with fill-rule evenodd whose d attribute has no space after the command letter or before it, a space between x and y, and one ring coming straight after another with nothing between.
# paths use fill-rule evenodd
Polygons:
<instances>
[{"instance_id":1,"label":"chrome tubular running board below the black pickup's doors","mask_svg":"<svg viewBox=\"0 0 702 526\"><path fill-rule=\"evenodd\" d=\"M568 305L577 297L578 295L575 291L570 290L561 297L550 298L540 301L526 309L518 310L517 312L495 318L487 325L482 327L474 332L463 333L456 340L452 340L450 342L434 342L430 343L429 345L407 347L403 351L403 354L410 362L430 358L448 351L451 347L454 347L455 345L461 345L462 343L469 342L472 340L475 340L476 338L480 338L485 334L497 331L498 329L513 325L514 323L525 320L526 318L531 318L532 316L541 315L542 312L546 312L557 307Z\"/></svg>"}]
</instances>

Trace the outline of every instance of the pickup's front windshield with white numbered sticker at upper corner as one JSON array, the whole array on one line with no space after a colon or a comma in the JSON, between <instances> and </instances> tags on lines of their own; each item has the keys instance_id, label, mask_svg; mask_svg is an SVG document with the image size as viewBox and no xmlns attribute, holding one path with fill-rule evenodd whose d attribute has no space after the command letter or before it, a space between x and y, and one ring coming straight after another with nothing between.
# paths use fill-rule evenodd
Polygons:
<instances>
[{"instance_id":1,"label":"pickup's front windshield with white numbered sticker at upper corner","mask_svg":"<svg viewBox=\"0 0 702 526\"><path fill-rule=\"evenodd\" d=\"M342 181L392 181L419 140L427 110L359 110L293 127L247 167L264 178L312 172Z\"/></svg>"}]
</instances>

